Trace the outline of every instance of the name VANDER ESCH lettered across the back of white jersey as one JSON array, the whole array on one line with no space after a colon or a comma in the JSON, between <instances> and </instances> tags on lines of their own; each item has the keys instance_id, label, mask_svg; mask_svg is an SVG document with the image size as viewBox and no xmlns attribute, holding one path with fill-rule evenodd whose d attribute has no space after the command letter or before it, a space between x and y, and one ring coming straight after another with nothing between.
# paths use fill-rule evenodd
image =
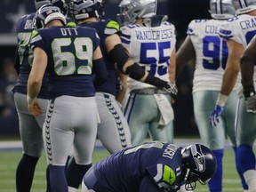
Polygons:
<instances>
[{"instance_id":1,"label":"name VANDER ESCH lettered across the back of white jersey","mask_svg":"<svg viewBox=\"0 0 256 192\"><path fill-rule=\"evenodd\" d=\"M136 30L137 40L161 40L172 38L173 30L172 28L163 29L163 30Z\"/></svg>"}]
</instances>

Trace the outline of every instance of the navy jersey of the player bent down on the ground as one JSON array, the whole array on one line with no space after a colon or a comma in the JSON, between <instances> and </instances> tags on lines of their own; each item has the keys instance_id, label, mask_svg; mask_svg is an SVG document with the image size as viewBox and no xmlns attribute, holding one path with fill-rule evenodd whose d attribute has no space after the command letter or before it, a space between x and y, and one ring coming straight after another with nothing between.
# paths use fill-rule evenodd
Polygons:
<instances>
[{"instance_id":1,"label":"navy jersey of the player bent down on the ground","mask_svg":"<svg viewBox=\"0 0 256 192\"><path fill-rule=\"evenodd\" d=\"M159 191L177 191L180 188L181 149L160 141L125 148L94 165L98 180L93 189L139 192L141 180L149 175Z\"/></svg>"}]
</instances>

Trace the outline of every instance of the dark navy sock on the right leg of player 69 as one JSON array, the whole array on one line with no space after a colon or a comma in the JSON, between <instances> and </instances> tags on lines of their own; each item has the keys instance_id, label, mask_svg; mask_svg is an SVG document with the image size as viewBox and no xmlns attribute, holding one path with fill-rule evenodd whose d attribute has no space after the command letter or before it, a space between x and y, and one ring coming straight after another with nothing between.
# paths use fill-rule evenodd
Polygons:
<instances>
[{"instance_id":1,"label":"dark navy sock on the right leg of player 69","mask_svg":"<svg viewBox=\"0 0 256 192\"><path fill-rule=\"evenodd\" d=\"M79 188L85 172L87 172L92 164L80 165L76 164L75 159L73 158L70 164L68 165L67 180L68 186L72 188Z\"/></svg>"}]
</instances>

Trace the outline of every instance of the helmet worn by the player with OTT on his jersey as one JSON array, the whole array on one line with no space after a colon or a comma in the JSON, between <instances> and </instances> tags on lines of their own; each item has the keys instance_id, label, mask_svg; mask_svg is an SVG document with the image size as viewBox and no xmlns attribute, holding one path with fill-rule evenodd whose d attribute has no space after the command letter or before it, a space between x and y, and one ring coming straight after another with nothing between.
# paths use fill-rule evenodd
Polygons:
<instances>
[{"instance_id":1,"label":"helmet worn by the player with OTT on his jersey","mask_svg":"<svg viewBox=\"0 0 256 192\"><path fill-rule=\"evenodd\" d=\"M52 20L61 20L63 25L66 25L67 23L66 18L61 13L59 7L52 6L52 4L44 5L36 12L33 26L36 29L44 28L45 25Z\"/></svg>"}]
</instances>

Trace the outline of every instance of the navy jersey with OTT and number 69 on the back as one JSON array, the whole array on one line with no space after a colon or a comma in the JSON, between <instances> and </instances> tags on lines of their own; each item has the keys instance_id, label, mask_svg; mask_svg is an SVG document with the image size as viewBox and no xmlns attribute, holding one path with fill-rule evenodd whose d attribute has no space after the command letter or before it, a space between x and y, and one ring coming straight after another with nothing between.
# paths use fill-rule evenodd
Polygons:
<instances>
[{"instance_id":1,"label":"navy jersey with OTT and number 69 on the back","mask_svg":"<svg viewBox=\"0 0 256 192\"><path fill-rule=\"evenodd\" d=\"M30 44L32 49L39 47L48 56L46 70L51 98L95 95L92 57L100 38L94 29L43 28L33 32Z\"/></svg>"}]
</instances>

